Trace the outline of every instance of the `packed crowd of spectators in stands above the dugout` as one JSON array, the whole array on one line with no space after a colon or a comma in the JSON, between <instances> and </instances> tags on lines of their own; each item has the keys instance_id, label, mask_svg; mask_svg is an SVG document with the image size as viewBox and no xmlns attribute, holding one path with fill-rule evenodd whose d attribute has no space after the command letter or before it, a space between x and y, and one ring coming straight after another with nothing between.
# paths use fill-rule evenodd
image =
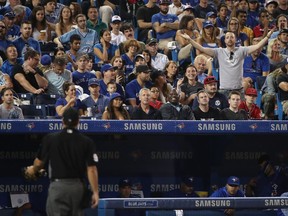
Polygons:
<instances>
[{"instance_id":1,"label":"packed crowd of spectators in stands above the dugout","mask_svg":"<svg viewBox=\"0 0 288 216\"><path fill-rule=\"evenodd\" d=\"M287 11L286 0L1 1L0 118L27 117L11 92L20 104L54 98L41 118L74 107L96 119L276 119L277 100L287 115Z\"/></svg>"}]
</instances>

